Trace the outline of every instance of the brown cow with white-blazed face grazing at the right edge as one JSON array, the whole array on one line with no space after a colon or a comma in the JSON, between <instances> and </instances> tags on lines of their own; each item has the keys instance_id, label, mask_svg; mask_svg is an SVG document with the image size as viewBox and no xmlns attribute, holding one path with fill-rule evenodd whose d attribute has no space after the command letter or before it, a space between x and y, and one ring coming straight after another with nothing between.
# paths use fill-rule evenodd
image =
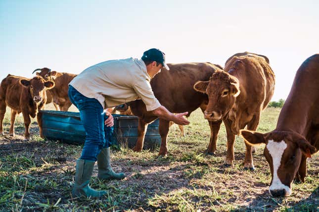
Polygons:
<instances>
[{"instance_id":1,"label":"brown cow with white-blazed face grazing at the right edge","mask_svg":"<svg viewBox=\"0 0 319 212\"><path fill-rule=\"evenodd\" d=\"M294 177L305 181L307 157L319 149L319 54L298 69L276 129L265 134L242 130L241 136L251 144L266 144L271 195L289 196Z\"/></svg>"}]
</instances>

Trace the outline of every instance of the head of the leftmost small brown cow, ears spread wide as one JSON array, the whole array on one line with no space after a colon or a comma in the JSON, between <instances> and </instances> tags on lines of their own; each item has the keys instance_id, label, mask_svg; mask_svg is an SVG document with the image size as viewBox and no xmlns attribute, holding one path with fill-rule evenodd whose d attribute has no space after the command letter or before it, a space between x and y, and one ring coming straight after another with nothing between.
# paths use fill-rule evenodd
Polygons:
<instances>
[{"instance_id":1,"label":"head of the leftmost small brown cow, ears spread wide","mask_svg":"<svg viewBox=\"0 0 319 212\"><path fill-rule=\"evenodd\" d=\"M35 103L43 100L44 91L54 87L53 81L46 81L41 76L35 76L30 80L21 79L20 83L30 89L30 94Z\"/></svg>"}]
</instances>

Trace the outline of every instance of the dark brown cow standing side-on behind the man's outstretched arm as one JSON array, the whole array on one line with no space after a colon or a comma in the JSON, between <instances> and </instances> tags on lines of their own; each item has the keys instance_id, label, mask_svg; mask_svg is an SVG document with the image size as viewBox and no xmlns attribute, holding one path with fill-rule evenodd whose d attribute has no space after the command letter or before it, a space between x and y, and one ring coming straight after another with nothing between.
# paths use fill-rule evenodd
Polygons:
<instances>
[{"instance_id":1,"label":"dark brown cow standing side-on behind the man's outstretched arm","mask_svg":"<svg viewBox=\"0 0 319 212\"><path fill-rule=\"evenodd\" d=\"M206 94L196 92L193 85L198 80L208 80L215 71L223 70L222 67L211 63L183 63L168 64L170 70L162 69L151 80L152 90L158 101L169 111L181 113L188 111L188 116L192 111L200 107L202 111L206 109L208 98ZM147 112L141 100L130 102L133 114L138 116L138 139L134 147L135 151L141 151L147 124L154 121L157 116L152 112ZM169 131L169 121L159 120L159 133L161 135L161 146L159 155L167 154L167 134ZM211 131L215 131L215 124L209 121ZM213 135L213 133L211 133ZM212 137L210 138L213 139Z\"/></svg>"}]
</instances>

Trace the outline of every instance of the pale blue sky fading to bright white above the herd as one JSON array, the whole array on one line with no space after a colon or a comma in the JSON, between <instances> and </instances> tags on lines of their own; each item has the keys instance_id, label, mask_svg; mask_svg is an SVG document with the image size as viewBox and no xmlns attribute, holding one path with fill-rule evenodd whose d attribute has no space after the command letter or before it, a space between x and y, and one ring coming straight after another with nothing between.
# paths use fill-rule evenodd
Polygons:
<instances>
[{"instance_id":1,"label":"pale blue sky fading to bright white above the herd","mask_svg":"<svg viewBox=\"0 0 319 212\"><path fill-rule=\"evenodd\" d=\"M285 99L295 72L319 53L319 0L0 0L0 79L37 68L80 73L160 48L168 63L212 62L250 51Z\"/></svg>"}]
</instances>

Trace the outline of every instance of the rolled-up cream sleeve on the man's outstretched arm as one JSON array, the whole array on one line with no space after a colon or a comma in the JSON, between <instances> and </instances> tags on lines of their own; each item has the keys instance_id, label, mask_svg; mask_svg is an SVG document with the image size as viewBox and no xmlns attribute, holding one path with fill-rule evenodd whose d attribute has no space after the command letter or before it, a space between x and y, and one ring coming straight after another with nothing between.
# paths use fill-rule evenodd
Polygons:
<instances>
[{"instance_id":1,"label":"rolled-up cream sleeve on the man's outstretched arm","mask_svg":"<svg viewBox=\"0 0 319 212\"><path fill-rule=\"evenodd\" d=\"M147 111L152 111L161 106L159 101L154 96L151 84L146 80L137 80L133 85L137 96L143 101Z\"/></svg>"}]
</instances>

